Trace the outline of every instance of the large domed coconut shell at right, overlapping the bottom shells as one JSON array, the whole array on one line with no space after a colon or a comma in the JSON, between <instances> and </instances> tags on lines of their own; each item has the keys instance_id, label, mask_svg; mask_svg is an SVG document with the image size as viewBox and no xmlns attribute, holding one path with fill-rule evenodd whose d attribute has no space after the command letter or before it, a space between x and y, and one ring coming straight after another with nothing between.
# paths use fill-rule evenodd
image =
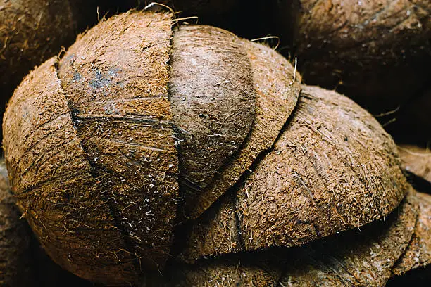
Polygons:
<instances>
[{"instance_id":1,"label":"large domed coconut shell at right, overlapping the bottom shells","mask_svg":"<svg viewBox=\"0 0 431 287\"><path fill-rule=\"evenodd\" d=\"M392 212L406 186L394 142L369 113L303 86L274 148L193 224L182 256L301 245L361 227Z\"/></svg>"}]
</instances>

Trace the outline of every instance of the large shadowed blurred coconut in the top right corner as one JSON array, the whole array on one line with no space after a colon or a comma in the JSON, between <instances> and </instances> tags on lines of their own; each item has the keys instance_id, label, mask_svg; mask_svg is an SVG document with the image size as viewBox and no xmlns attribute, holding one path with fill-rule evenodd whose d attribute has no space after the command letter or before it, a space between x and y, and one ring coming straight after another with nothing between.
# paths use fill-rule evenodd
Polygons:
<instances>
[{"instance_id":1,"label":"large shadowed blurred coconut in the top right corner","mask_svg":"<svg viewBox=\"0 0 431 287\"><path fill-rule=\"evenodd\" d=\"M307 84L394 110L429 82L428 0L285 0L274 16ZM284 38L283 38L284 36Z\"/></svg>"}]
</instances>

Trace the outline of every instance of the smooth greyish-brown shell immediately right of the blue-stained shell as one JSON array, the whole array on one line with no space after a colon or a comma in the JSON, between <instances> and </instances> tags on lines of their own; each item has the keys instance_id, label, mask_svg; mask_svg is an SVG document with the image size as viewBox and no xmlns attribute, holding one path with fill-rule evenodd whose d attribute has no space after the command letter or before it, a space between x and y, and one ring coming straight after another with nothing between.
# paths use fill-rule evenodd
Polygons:
<instances>
[{"instance_id":1,"label":"smooth greyish-brown shell immediately right of the blue-stained shell","mask_svg":"<svg viewBox=\"0 0 431 287\"><path fill-rule=\"evenodd\" d=\"M235 34L211 26L183 26L173 35L169 98L187 217L223 194L201 193L253 124L253 76L241 44Z\"/></svg>"}]
</instances>

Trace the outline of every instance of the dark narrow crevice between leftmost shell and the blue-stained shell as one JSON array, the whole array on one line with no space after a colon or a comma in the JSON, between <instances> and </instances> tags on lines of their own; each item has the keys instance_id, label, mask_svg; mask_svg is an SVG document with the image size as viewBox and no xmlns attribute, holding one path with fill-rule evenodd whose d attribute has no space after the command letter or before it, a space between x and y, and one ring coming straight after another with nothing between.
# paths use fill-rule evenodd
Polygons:
<instances>
[{"instance_id":1,"label":"dark narrow crevice between leftmost shell and the blue-stained shell","mask_svg":"<svg viewBox=\"0 0 431 287\"><path fill-rule=\"evenodd\" d=\"M83 151L85 157L87 158L87 162L89 163L89 166L90 166L89 174L91 174L92 178L94 179L94 182L96 183L98 181L98 177L99 177L99 174L98 174L99 169L96 167L94 162L92 162L91 157L89 156L89 153L87 152L87 150L84 148L84 146L82 144L80 132L79 132L79 129L77 129L77 123L79 122L79 120L77 119L77 115L76 115L76 113L74 113L73 106L71 105L71 103L68 99L68 96L65 93L65 90L63 87L63 82L61 81L60 77L58 76L58 65L59 65L59 63L56 62L55 63L56 76L58 78L58 81L60 81L61 91L65 97L65 101L68 104L68 108L70 110L70 119L72 120L73 127L75 128L77 138L80 141L80 148L82 148L82 151ZM109 200L109 198L107 198L104 195L103 191L100 192L99 194L104 199L104 203L106 203L106 205L108 206L108 209L109 209L111 217L113 218L115 227L118 229L118 231L120 231L120 234L122 236L125 248L127 248L127 253L129 253L133 258L132 262L133 262L133 266L135 267L135 270L140 271L141 270L141 264L139 262L139 257L137 257L137 255L135 253L135 244L132 243L132 241L130 240L130 238L127 234L127 230L123 227L123 224L121 224L121 220L120 220L120 216L118 215L118 211L115 209L115 207L111 203L111 200Z\"/></svg>"}]
</instances>

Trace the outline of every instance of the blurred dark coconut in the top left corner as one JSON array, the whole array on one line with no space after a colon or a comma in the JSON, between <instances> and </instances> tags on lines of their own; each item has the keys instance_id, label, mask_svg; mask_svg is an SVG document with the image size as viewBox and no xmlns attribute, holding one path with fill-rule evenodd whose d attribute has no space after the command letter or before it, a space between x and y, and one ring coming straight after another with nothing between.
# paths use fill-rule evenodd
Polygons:
<instances>
[{"instance_id":1,"label":"blurred dark coconut in the top left corner","mask_svg":"<svg viewBox=\"0 0 431 287\"><path fill-rule=\"evenodd\" d=\"M0 8L0 97L5 101L34 65L75 39L75 21L69 1L1 0Z\"/></svg>"}]
</instances>

